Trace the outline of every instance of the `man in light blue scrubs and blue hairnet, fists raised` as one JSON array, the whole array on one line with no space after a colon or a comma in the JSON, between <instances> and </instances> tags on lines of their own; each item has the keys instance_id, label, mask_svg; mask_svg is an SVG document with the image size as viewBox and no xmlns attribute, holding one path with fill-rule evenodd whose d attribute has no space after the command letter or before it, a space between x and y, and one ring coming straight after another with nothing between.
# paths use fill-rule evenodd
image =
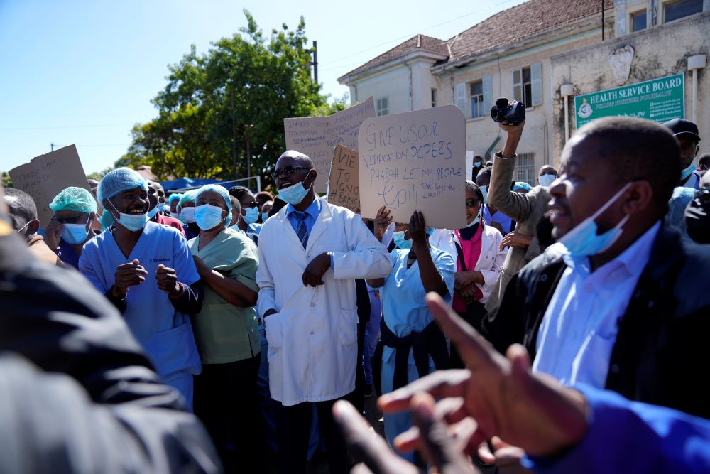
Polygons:
<instances>
[{"instance_id":1,"label":"man in light blue scrubs and blue hairnet, fists raised","mask_svg":"<svg viewBox=\"0 0 710 474\"><path fill-rule=\"evenodd\" d=\"M148 220L148 184L118 168L99 183L101 235L84 244L79 270L123 313L163 382L192 408L192 375L200 356L190 315L202 309L202 288L187 241L173 227Z\"/></svg>"}]
</instances>

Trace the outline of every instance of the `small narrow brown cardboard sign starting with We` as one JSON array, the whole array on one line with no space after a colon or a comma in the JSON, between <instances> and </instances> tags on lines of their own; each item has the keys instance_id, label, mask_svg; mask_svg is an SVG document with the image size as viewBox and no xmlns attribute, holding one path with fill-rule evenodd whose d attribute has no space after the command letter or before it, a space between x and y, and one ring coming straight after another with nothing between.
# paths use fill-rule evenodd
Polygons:
<instances>
[{"instance_id":1,"label":"small narrow brown cardboard sign starting with We","mask_svg":"<svg viewBox=\"0 0 710 474\"><path fill-rule=\"evenodd\" d=\"M359 164L357 151L340 144L335 146L328 179L328 202L348 208L360 208Z\"/></svg>"}]
</instances>

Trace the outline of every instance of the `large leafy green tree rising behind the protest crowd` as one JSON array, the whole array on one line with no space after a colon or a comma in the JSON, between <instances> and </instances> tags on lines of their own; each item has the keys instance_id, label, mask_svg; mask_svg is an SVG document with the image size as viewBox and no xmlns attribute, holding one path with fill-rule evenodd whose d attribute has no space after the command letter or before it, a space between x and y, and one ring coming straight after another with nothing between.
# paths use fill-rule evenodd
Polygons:
<instances>
[{"instance_id":1,"label":"large leafy green tree rising behind the protest crowd","mask_svg":"<svg viewBox=\"0 0 710 474\"><path fill-rule=\"evenodd\" d=\"M212 43L192 46L170 66L168 84L153 99L158 117L136 124L133 142L116 166L150 165L160 178L242 178L268 171L283 151L283 119L337 112L310 77L305 22L283 24L268 38L249 11L247 26ZM324 113L323 113L324 112Z\"/></svg>"}]
</instances>

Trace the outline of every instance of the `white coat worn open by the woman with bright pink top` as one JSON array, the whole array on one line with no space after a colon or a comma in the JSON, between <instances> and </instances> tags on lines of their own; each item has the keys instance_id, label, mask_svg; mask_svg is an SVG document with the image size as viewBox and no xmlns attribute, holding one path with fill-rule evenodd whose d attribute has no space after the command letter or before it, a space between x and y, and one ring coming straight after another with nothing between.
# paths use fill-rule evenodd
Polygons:
<instances>
[{"instance_id":1,"label":"white coat worn open by the woman with bright pink top","mask_svg":"<svg viewBox=\"0 0 710 474\"><path fill-rule=\"evenodd\" d=\"M454 262L458 262L459 256L454 243L458 242L458 239L453 230L439 229L429 237L429 243L439 250L449 252L454 257ZM496 227L485 225L481 234L481 255L476 262L476 266L473 269L468 269L469 271L480 271L484 276L484 284L476 284L481 293L483 293L483 297L479 300L482 304L486 304L488 296L491 296L493 289L496 287L496 282L501 276L501 267L508 253L507 247L501 252L502 241L503 235Z\"/></svg>"}]
</instances>

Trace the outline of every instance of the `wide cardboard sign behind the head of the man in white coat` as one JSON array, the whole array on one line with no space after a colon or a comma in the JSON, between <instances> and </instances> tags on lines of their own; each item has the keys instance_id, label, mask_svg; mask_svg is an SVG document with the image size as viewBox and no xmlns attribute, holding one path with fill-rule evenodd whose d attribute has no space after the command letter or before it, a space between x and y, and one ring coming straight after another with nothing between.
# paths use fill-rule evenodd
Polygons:
<instances>
[{"instance_id":1,"label":"wide cardboard sign behind the head of the man in white coat","mask_svg":"<svg viewBox=\"0 0 710 474\"><path fill-rule=\"evenodd\" d=\"M358 129L368 117L375 117L375 101L372 97L329 117L283 119L286 149L300 151L313 160L313 166L318 172L316 193L326 192L333 147L343 144L357 151Z\"/></svg>"}]
</instances>

